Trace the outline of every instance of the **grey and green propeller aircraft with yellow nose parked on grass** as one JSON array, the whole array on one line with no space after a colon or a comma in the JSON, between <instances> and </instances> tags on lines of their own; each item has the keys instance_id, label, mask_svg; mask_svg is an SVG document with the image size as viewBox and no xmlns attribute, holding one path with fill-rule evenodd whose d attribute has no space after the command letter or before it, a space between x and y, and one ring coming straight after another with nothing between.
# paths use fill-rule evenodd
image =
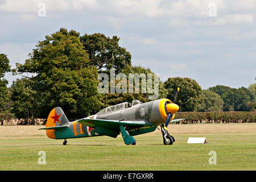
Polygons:
<instances>
[{"instance_id":1,"label":"grey and green propeller aircraft with yellow nose parked on grass","mask_svg":"<svg viewBox=\"0 0 256 182\"><path fill-rule=\"evenodd\" d=\"M174 102L177 98L177 88ZM120 133L125 144L136 144L135 135L150 133L160 126L163 134L163 143L168 145L175 142L168 131L170 122L184 119L174 119L179 106L167 98L142 103L134 100L131 103L123 102L114 106L106 107L97 114L69 122L60 107L55 107L49 113L46 127L47 137L52 139L64 139L67 144L68 138L94 137L106 135L116 138ZM164 124L163 124L164 123Z\"/></svg>"}]
</instances>

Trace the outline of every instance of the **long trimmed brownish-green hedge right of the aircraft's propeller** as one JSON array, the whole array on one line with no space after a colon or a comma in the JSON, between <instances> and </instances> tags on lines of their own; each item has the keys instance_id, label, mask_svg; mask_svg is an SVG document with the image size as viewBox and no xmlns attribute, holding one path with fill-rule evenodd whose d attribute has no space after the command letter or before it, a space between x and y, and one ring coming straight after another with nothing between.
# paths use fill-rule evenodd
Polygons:
<instances>
[{"instance_id":1,"label":"long trimmed brownish-green hedge right of the aircraft's propeller","mask_svg":"<svg viewBox=\"0 0 256 182\"><path fill-rule=\"evenodd\" d=\"M177 123L245 123L256 122L256 111L250 112L179 112L175 119L186 118Z\"/></svg>"}]
</instances>

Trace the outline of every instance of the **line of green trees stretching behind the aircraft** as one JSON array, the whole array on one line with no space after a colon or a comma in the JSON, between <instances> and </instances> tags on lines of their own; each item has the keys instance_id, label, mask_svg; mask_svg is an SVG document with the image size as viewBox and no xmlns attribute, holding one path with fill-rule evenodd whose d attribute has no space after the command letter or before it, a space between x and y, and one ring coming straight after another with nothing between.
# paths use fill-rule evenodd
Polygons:
<instances>
[{"instance_id":1,"label":"line of green trees stretching behind the aircraft","mask_svg":"<svg viewBox=\"0 0 256 182\"><path fill-rule=\"evenodd\" d=\"M150 68L131 65L131 54L120 47L119 38L104 34L84 34L75 30L59 31L39 41L24 64L11 69L9 59L0 54L0 112L13 113L32 124L35 118L47 118L56 106L63 108L67 117L79 119L95 114L106 106L121 102L149 101L146 93L99 93L98 73L153 73ZM22 78L7 88L5 73ZM250 111L255 110L255 85L230 88L216 85L207 90L192 78L174 77L159 82L159 97L174 99L180 111Z\"/></svg>"}]
</instances>

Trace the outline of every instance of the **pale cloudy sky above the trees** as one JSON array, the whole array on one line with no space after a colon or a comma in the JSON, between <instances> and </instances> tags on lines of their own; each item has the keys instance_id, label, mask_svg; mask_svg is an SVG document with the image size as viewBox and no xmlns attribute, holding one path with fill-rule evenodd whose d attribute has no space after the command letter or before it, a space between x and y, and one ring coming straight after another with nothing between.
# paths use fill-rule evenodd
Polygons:
<instances>
[{"instance_id":1,"label":"pale cloudy sky above the trees","mask_svg":"<svg viewBox=\"0 0 256 182\"><path fill-rule=\"evenodd\" d=\"M203 89L240 88L255 82L255 19L255 0L0 0L0 53L15 68L61 27L101 32L121 38L132 64L162 81L179 76ZM10 86L17 77L6 78Z\"/></svg>"}]
</instances>

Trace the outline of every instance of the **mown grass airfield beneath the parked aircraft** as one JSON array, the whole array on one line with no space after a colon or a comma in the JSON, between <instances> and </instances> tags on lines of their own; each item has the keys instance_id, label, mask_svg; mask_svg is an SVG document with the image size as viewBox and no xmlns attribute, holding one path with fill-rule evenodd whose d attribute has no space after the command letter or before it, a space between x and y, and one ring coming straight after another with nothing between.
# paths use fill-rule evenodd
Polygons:
<instances>
[{"instance_id":1,"label":"mown grass airfield beneath the parked aircraft","mask_svg":"<svg viewBox=\"0 0 256 182\"><path fill-rule=\"evenodd\" d=\"M170 125L172 146L159 130L135 136L126 146L118 137L54 140L44 126L0 126L0 170L255 170L256 123ZM207 144L187 144L188 137L206 137ZM39 165L39 151L46 164ZM210 165L210 151L217 164Z\"/></svg>"}]
</instances>

